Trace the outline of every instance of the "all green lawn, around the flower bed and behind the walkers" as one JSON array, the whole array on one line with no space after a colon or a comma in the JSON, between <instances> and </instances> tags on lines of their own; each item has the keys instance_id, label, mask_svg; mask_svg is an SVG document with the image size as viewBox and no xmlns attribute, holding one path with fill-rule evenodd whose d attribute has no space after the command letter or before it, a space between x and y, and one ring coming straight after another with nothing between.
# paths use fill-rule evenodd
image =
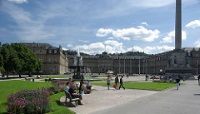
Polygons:
<instances>
[{"instance_id":1,"label":"all green lawn, around the flower bed and behind the walkers","mask_svg":"<svg viewBox=\"0 0 200 114\"><path fill-rule=\"evenodd\" d=\"M92 81L94 85L106 86L106 81ZM113 85L113 83L111 83ZM6 113L7 96L20 90L31 90L43 87L51 87L51 82L31 82L31 81L0 81L0 114ZM172 83L156 83L156 82L125 82L127 89L141 89L162 91L167 88L174 87ZM60 105L59 100L64 92L54 94L50 97L51 112L49 114L74 114L67 107Z\"/></svg>"}]
</instances>

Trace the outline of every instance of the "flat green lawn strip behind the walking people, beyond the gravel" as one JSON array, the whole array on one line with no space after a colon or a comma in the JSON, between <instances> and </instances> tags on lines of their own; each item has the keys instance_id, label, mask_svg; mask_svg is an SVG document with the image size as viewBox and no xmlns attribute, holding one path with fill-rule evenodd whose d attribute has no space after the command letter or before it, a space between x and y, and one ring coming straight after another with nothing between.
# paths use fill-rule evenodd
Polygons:
<instances>
[{"instance_id":1,"label":"flat green lawn strip behind the walking people, beyond the gravel","mask_svg":"<svg viewBox=\"0 0 200 114\"><path fill-rule=\"evenodd\" d=\"M94 81L92 84L107 86L106 81ZM113 86L114 83L111 83ZM118 85L119 86L119 85ZM157 83L157 82L124 82L124 87L127 89L139 89L139 90L151 90L151 91L162 91L168 88L175 87L173 83Z\"/></svg>"}]
</instances>

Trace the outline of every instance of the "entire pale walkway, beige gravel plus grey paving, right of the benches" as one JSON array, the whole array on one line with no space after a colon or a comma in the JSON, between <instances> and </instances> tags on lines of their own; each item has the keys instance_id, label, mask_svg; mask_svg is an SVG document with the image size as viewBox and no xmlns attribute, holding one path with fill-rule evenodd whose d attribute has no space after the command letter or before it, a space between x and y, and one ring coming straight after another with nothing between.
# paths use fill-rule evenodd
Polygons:
<instances>
[{"instance_id":1,"label":"entire pale walkway, beige gravel plus grey paving, right of the benches","mask_svg":"<svg viewBox=\"0 0 200 114\"><path fill-rule=\"evenodd\" d=\"M124 78L125 81L144 81L143 76ZM107 90L95 86L83 95L82 106L71 107L77 114L199 114L200 87L197 80L161 92L145 90Z\"/></svg>"}]
</instances>

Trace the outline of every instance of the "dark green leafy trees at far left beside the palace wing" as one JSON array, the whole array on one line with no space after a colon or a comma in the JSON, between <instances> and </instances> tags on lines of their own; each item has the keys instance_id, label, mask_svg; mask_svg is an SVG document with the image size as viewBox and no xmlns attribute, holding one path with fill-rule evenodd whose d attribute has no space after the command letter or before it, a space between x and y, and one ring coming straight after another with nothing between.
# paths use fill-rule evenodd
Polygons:
<instances>
[{"instance_id":1,"label":"dark green leafy trees at far left beside the palace wing","mask_svg":"<svg viewBox=\"0 0 200 114\"><path fill-rule=\"evenodd\" d=\"M42 63L37 56L21 43L3 44L0 47L0 71L3 75L17 73L19 77L24 72L31 75L39 71Z\"/></svg>"}]
</instances>

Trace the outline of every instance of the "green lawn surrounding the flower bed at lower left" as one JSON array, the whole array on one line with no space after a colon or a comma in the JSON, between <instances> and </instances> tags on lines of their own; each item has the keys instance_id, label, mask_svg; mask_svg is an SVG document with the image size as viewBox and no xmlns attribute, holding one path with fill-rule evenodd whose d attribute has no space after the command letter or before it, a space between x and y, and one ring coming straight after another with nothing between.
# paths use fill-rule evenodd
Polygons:
<instances>
[{"instance_id":1,"label":"green lawn surrounding the flower bed at lower left","mask_svg":"<svg viewBox=\"0 0 200 114\"><path fill-rule=\"evenodd\" d=\"M51 86L51 82L0 81L0 114L6 113L7 96L11 93ZM73 114L67 107L59 105L59 100L63 95L64 93L60 92L50 97L51 112L49 114Z\"/></svg>"}]
</instances>

